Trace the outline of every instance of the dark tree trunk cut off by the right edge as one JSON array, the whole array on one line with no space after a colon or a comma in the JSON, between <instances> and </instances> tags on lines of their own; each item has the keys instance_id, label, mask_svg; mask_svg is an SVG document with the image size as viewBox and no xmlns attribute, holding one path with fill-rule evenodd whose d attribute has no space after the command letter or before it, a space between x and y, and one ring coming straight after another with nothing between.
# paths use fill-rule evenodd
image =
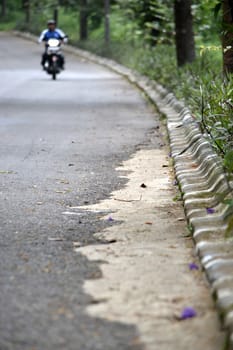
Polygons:
<instances>
[{"instance_id":1,"label":"dark tree trunk cut off by the right edge","mask_svg":"<svg viewBox=\"0 0 233 350\"><path fill-rule=\"evenodd\" d=\"M233 73L233 1L223 1L223 71Z\"/></svg>"}]
</instances>

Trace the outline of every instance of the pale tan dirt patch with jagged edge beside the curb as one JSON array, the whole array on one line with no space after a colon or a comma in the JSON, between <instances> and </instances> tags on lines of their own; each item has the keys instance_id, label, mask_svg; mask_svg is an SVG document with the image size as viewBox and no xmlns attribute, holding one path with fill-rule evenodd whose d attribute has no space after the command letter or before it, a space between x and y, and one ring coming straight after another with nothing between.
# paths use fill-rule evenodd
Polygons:
<instances>
[{"instance_id":1,"label":"pale tan dirt patch with jagged edge beside the curb","mask_svg":"<svg viewBox=\"0 0 233 350\"><path fill-rule=\"evenodd\" d=\"M90 260L103 261L102 278L85 283L95 301L87 313L134 324L147 350L221 349L224 333L183 207L174 201L165 151L138 151L119 170L128 173L127 186L86 207L111 212L103 219L109 227L96 234L109 244L75 248ZM182 315L187 308L194 317Z\"/></svg>"}]
</instances>

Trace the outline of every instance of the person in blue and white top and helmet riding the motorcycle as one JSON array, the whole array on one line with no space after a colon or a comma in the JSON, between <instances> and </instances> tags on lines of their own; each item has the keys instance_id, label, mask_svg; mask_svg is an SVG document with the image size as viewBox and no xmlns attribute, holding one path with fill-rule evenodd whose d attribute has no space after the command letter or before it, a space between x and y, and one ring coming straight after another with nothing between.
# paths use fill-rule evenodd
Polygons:
<instances>
[{"instance_id":1,"label":"person in blue and white top and helmet riding the motorcycle","mask_svg":"<svg viewBox=\"0 0 233 350\"><path fill-rule=\"evenodd\" d=\"M56 28L56 21L53 19L50 19L47 22L48 29L45 29L41 32L40 37L38 39L38 42L41 43L42 41L45 42L45 51L42 54L42 59L41 59L41 65L43 69L45 69L45 63L47 61L48 55L47 55L47 42L49 39L58 39L63 43L66 43L68 41L67 35L61 30ZM64 69L64 63L65 59L64 56L61 54L61 68Z\"/></svg>"}]
</instances>

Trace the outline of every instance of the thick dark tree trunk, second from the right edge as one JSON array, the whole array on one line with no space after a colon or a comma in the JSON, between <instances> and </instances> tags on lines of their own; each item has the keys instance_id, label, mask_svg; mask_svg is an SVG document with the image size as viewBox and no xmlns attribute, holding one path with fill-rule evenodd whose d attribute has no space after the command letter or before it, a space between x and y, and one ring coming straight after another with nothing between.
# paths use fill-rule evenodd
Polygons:
<instances>
[{"instance_id":1,"label":"thick dark tree trunk, second from the right edge","mask_svg":"<svg viewBox=\"0 0 233 350\"><path fill-rule=\"evenodd\" d=\"M182 66L195 60L192 0L175 0L175 30L177 64Z\"/></svg>"}]
</instances>

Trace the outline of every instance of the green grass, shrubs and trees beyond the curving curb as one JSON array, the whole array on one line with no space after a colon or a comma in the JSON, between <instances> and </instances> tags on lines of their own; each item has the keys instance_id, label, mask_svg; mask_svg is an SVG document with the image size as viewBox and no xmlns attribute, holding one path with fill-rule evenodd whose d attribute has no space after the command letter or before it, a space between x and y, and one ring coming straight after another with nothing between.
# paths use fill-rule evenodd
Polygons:
<instances>
[{"instance_id":1,"label":"green grass, shrubs and trees beyond the curving curb","mask_svg":"<svg viewBox=\"0 0 233 350\"><path fill-rule=\"evenodd\" d=\"M224 27L224 20L228 20L224 3L231 15L233 10L228 1L182 0L181 6L192 9L192 33L185 40L189 45L193 34L195 51L191 57L181 57L179 62L179 38L177 41L175 33L182 28L177 27L174 11L178 23L182 21L182 13L175 7L176 3L180 2L9 0L6 4L3 0L0 30L19 29L39 34L47 19L56 17L72 44L137 70L184 100L232 173L233 55L232 63L229 57L224 57L222 38L227 37L226 31L233 32L233 17L231 27L229 23ZM187 46L188 53L192 49L193 45ZM226 52L231 53L230 46ZM224 66L224 59L228 59L228 66Z\"/></svg>"}]
</instances>

